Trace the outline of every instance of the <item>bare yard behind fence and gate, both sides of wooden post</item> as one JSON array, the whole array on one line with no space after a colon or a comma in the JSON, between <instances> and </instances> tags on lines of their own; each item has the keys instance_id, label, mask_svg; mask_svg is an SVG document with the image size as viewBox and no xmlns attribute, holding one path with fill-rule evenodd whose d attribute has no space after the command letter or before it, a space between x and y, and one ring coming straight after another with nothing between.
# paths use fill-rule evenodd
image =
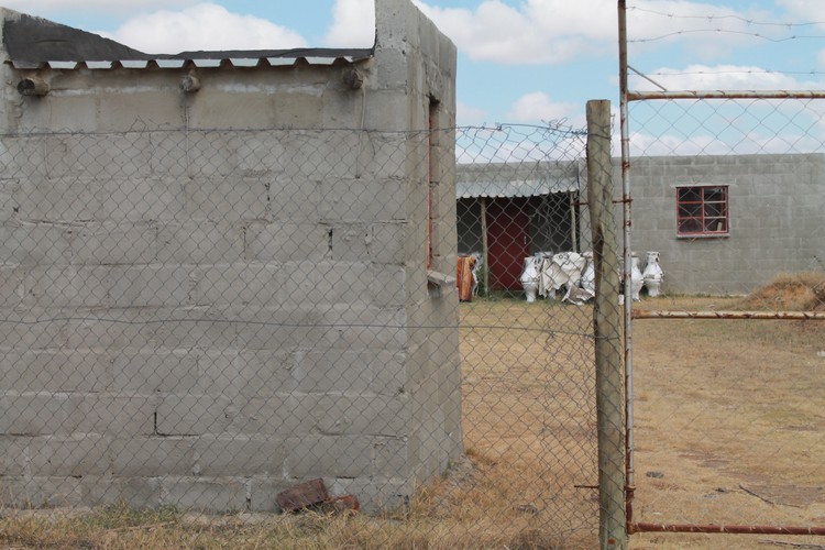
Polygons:
<instances>
[{"instance_id":1,"label":"bare yard behind fence and gate, both sides of wooden post","mask_svg":"<svg viewBox=\"0 0 825 550\"><path fill-rule=\"evenodd\" d=\"M825 278L805 275L746 298L645 298L636 307L800 311L823 304ZM482 468L488 481L504 482L502 525L524 528L512 509L527 506L565 548L596 544L591 322L590 307L558 302L462 305L470 457L506 464ZM488 328L501 326L514 330ZM634 321L635 520L825 527L824 355L820 320ZM825 538L631 537L631 548L772 546L825 548Z\"/></svg>"}]
</instances>

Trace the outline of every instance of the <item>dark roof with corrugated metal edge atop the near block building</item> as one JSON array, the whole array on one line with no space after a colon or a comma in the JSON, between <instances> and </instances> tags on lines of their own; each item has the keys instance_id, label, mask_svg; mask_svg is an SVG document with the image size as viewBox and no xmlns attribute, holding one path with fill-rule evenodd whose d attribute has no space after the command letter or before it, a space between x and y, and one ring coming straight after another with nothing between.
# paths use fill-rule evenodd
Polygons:
<instances>
[{"instance_id":1,"label":"dark roof with corrugated metal edge atop the near block building","mask_svg":"<svg viewBox=\"0 0 825 550\"><path fill-rule=\"evenodd\" d=\"M3 10L3 45L19 69L277 67L296 63L331 65L370 58L373 48L231 50L146 54L98 34Z\"/></svg>"}]
</instances>

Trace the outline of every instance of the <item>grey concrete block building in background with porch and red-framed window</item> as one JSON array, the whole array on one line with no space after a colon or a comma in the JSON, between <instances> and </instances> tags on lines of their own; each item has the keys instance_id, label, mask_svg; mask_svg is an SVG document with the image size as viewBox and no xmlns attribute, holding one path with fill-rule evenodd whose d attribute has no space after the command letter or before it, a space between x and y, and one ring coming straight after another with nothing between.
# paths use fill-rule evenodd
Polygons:
<instances>
[{"instance_id":1,"label":"grey concrete block building in background with porch and red-framed window","mask_svg":"<svg viewBox=\"0 0 825 550\"><path fill-rule=\"evenodd\" d=\"M618 204L620 162L613 164ZM666 293L745 295L783 273L823 270L822 153L630 164L631 246L642 262L647 251L660 253ZM578 202L586 196L583 162L459 165L457 180L459 252L482 253L487 243L493 289L520 290L525 256L590 249L587 209ZM619 206L615 217L620 235Z\"/></svg>"}]
</instances>

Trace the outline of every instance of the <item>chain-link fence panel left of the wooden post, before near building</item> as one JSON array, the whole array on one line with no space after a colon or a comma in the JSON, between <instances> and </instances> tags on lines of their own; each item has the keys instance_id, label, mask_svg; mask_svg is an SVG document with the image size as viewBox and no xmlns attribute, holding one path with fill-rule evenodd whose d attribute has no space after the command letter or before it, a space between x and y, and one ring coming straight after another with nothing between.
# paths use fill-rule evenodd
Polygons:
<instances>
[{"instance_id":1,"label":"chain-link fence panel left of the wooden post, before near building","mask_svg":"<svg viewBox=\"0 0 825 550\"><path fill-rule=\"evenodd\" d=\"M6 512L358 501L407 537L593 543L585 132L0 146Z\"/></svg>"}]
</instances>

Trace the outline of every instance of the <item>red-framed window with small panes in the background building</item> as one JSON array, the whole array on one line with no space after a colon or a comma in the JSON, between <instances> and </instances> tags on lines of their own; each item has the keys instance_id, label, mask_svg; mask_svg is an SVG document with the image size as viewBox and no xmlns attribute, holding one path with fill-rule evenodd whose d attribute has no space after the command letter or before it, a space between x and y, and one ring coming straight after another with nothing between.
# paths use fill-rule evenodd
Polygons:
<instances>
[{"instance_id":1,"label":"red-framed window with small panes in the background building","mask_svg":"<svg viewBox=\"0 0 825 550\"><path fill-rule=\"evenodd\" d=\"M676 234L713 237L728 234L727 186L676 188Z\"/></svg>"}]
</instances>

